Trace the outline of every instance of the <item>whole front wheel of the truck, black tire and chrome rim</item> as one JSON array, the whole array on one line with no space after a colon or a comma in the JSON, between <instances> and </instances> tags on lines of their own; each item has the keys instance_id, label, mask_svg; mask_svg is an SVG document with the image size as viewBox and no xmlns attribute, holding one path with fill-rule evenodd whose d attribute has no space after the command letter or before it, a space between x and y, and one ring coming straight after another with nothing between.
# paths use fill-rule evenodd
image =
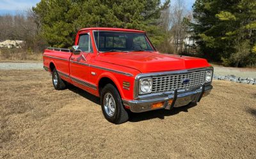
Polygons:
<instances>
[{"instance_id":1,"label":"whole front wheel of the truck, black tire and chrome rim","mask_svg":"<svg viewBox=\"0 0 256 159\"><path fill-rule=\"evenodd\" d=\"M100 105L104 117L111 123L121 124L128 119L128 113L116 88L112 84L107 84L100 94Z\"/></svg>"}]
</instances>

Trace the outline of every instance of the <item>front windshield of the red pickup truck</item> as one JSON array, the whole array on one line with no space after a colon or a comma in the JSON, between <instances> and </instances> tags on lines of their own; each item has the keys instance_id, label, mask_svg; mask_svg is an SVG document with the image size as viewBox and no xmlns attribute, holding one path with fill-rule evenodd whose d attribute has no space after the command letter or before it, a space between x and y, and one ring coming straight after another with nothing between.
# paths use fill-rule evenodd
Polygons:
<instances>
[{"instance_id":1,"label":"front windshield of the red pickup truck","mask_svg":"<svg viewBox=\"0 0 256 159\"><path fill-rule=\"evenodd\" d=\"M100 52L154 51L143 33L93 31L93 35Z\"/></svg>"}]
</instances>

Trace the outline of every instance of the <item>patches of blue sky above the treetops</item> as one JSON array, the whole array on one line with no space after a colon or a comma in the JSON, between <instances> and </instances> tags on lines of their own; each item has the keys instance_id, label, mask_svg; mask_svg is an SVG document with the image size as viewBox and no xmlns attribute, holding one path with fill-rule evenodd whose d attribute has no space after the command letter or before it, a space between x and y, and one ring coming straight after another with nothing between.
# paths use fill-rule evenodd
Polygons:
<instances>
[{"instance_id":1,"label":"patches of blue sky above the treetops","mask_svg":"<svg viewBox=\"0 0 256 159\"><path fill-rule=\"evenodd\" d=\"M9 13L14 15L17 12L35 6L40 0L0 0L0 15ZM164 0L161 0L164 1ZM175 0L171 0L175 1ZM195 0L183 0L188 10L192 9Z\"/></svg>"}]
</instances>

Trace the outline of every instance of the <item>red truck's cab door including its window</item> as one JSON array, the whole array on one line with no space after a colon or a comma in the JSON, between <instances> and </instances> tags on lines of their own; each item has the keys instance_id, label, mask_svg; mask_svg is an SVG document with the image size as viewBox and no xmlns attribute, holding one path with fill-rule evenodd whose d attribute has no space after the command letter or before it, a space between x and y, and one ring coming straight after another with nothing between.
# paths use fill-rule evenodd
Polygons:
<instances>
[{"instance_id":1,"label":"red truck's cab door including its window","mask_svg":"<svg viewBox=\"0 0 256 159\"><path fill-rule=\"evenodd\" d=\"M90 83L88 83L89 77L89 54L93 54L92 40L90 38L90 32L79 34L79 40L77 42L78 49L81 50L80 54L72 54L70 57L70 79L72 84L77 87L81 87L85 90L90 90Z\"/></svg>"}]
</instances>

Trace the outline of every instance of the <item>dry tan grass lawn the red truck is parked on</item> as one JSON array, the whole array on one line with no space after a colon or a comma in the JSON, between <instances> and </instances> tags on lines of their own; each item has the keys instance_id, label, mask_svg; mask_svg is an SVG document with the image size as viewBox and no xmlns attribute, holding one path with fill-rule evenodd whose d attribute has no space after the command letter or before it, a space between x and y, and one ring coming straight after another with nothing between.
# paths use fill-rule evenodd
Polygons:
<instances>
[{"instance_id":1,"label":"dry tan grass lawn the red truck is parked on","mask_svg":"<svg viewBox=\"0 0 256 159\"><path fill-rule=\"evenodd\" d=\"M197 105L104 119L99 98L42 70L0 71L0 158L256 158L256 86L213 82Z\"/></svg>"}]
</instances>

